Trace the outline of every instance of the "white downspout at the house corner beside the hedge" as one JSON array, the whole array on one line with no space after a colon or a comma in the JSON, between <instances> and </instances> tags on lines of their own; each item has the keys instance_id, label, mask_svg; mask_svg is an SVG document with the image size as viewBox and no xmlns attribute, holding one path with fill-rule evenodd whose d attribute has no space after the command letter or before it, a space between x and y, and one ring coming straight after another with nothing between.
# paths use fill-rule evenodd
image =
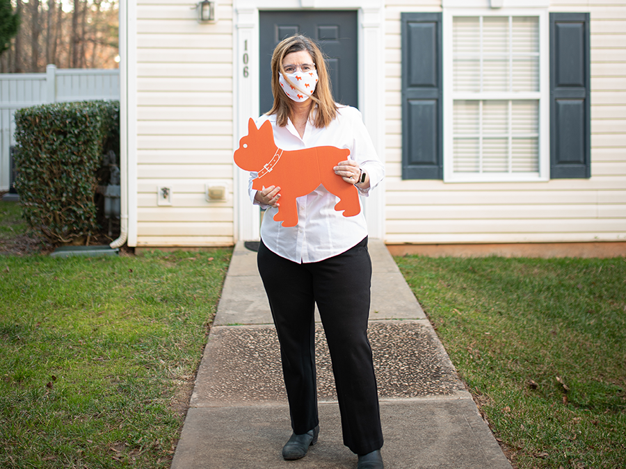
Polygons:
<instances>
[{"instance_id":1,"label":"white downspout at the house corner beside the hedge","mask_svg":"<svg viewBox=\"0 0 626 469\"><path fill-rule=\"evenodd\" d=\"M122 247L128 238L128 3L120 0L120 237L109 245Z\"/></svg>"}]
</instances>

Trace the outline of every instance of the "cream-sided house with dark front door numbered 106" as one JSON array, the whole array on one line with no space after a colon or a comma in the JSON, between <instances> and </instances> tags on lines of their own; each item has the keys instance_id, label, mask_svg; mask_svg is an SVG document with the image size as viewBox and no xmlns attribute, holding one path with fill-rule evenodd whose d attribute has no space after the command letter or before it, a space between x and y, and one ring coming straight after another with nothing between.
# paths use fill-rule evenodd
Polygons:
<instances>
[{"instance_id":1,"label":"cream-sided house with dark front door numbered 106","mask_svg":"<svg viewBox=\"0 0 626 469\"><path fill-rule=\"evenodd\" d=\"M211 22L182 0L121 2L117 245L259 238L232 154L271 103L273 46L304 31L385 162L364 209L394 254L626 254L625 2L204 6Z\"/></svg>"}]
</instances>

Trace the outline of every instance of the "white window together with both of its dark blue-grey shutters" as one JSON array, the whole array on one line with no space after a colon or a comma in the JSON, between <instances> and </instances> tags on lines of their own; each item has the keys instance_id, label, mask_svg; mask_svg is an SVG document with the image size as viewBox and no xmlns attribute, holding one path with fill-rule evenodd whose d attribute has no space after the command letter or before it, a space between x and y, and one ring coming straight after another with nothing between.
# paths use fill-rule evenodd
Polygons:
<instances>
[{"instance_id":1,"label":"white window together with both of its dark blue-grey shutters","mask_svg":"<svg viewBox=\"0 0 626 469\"><path fill-rule=\"evenodd\" d=\"M591 176L589 13L529 1L401 14L402 179Z\"/></svg>"}]
</instances>

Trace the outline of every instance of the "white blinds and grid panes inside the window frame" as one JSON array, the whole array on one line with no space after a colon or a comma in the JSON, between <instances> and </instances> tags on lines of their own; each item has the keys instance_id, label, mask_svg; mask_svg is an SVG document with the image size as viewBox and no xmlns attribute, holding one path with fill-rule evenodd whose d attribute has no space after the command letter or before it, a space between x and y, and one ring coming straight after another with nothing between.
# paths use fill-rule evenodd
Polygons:
<instances>
[{"instance_id":1,"label":"white blinds and grid panes inside the window frame","mask_svg":"<svg viewBox=\"0 0 626 469\"><path fill-rule=\"evenodd\" d=\"M453 174L538 174L539 34L536 16L452 18Z\"/></svg>"}]
</instances>

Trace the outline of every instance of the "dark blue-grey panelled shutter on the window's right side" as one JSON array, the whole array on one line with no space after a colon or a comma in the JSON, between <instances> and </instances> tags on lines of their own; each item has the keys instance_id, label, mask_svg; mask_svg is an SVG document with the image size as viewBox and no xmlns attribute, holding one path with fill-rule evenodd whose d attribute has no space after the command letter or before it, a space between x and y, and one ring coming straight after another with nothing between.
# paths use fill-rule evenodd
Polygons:
<instances>
[{"instance_id":1,"label":"dark blue-grey panelled shutter on the window's right side","mask_svg":"<svg viewBox=\"0 0 626 469\"><path fill-rule=\"evenodd\" d=\"M550 179L591 177L589 13L550 13Z\"/></svg>"}]
</instances>

